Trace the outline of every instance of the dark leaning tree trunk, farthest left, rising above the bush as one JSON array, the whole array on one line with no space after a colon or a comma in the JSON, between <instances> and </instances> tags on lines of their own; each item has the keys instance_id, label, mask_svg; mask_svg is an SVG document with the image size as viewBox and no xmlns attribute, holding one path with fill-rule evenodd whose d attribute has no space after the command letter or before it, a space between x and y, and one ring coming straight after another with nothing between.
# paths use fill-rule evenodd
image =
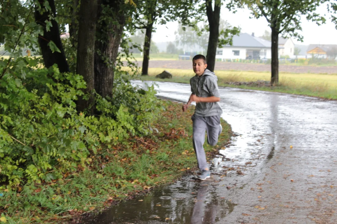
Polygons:
<instances>
[{"instance_id":1,"label":"dark leaning tree trunk, farthest left, rising above the bush","mask_svg":"<svg viewBox=\"0 0 337 224\"><path fill-rule=\"evenodd\" d=\"M41 53L43 57L44 66L49 68L53 64L57 64L60 72L69 72L69 66L64 54L63 46L61 43L60 31L59 26L55 19L50 20L49 16L52 15L53 17L56 16L56 9L54 0L48 0L48 3L51 7L51 11L47 11L44 7L44 0L38 0L41 5L41 10L38 10L38 6L35 5L35 20L36 23L43 27L43 36L38 37L39 45L41 48ZM43 12L42 14L40 12ZM50 31L47 31L45 21L50 21L52 26L49 28ZM53 41L57 48L61 51L59 52L52 52L48 43Z\"/></svg>"}]
</instances>

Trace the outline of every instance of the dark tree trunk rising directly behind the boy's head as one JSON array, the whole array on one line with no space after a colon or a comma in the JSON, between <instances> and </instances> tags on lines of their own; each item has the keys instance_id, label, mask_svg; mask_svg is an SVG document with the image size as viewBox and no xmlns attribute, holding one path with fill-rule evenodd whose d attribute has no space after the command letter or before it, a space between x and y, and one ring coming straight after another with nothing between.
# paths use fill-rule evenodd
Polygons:
<instances>
[{"instance_id":1,"label":"dark tree trunk rising directly behind the boy's head","mask_svg":"<svg viewBox=\"0 0 337 224\"><path fill-rule=\"evenodd\" d=\"M220 21L220 4L214 4L212 9L212 1L206 0L206 14L210 27L210 36L207 47L207 69L214 71L216 48L219 41L219 21Z\"/></svg>"}]
</instances>

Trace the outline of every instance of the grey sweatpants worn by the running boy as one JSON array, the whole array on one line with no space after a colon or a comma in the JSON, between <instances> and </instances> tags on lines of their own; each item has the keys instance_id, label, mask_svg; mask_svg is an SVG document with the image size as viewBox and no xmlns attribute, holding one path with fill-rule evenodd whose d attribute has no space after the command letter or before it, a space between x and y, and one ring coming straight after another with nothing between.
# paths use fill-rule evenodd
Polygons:
<instances>
[{"instance_id":1,"label":"grey sweatpants worn by the running boy","mask_svg":"<svg viewBox=\"0 0 337 224\"><path fill-rule=\"evenodd\" d=\"M200 117L193 115L193 148L200 170L208 168L204 150L205 131L207 131L207 143L214 146L220 135L220 116Z\"/></svg>"}]
</instances>

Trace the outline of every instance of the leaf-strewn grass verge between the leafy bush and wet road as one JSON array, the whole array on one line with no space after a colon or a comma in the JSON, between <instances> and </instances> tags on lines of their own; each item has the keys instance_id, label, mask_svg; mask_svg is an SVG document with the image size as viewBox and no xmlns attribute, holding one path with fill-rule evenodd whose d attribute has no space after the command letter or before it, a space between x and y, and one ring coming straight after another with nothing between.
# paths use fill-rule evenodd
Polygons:
<instances>
[{"instance_id":1,"label":"leaf-strewn grass verge between the leafy bush and wet road","mask_svg":"<svg viewBox=\"0 0 337 224\"><path fill-rule=\"evenodd\" d=\"M134 136L128 145L117 145L92 156L92 165L49 184L26 184L19 192L0 192L0 214L7 223L64 223L78 215L99 211L181 177L196 168L191 142L194 108L185 113L181 104L163 100L164 111L153 134ZM231 136L223 127L218 146ZM217 146L205 144L210 158ZM0 222L3 223L3 222Z\"/></svg>"}]
</instances>

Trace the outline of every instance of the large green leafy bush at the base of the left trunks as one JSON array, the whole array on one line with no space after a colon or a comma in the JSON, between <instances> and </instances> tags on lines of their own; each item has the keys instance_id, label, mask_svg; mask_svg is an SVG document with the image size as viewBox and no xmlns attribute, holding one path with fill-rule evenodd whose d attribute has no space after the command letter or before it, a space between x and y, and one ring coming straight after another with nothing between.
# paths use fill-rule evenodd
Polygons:
<instances>
[{"instance_id":1,"label":"large green leafy bush at the base of the left trunks","mask_svg":"<svg viewBox=\"0 0 337 224\"><path fill-rule=\"evenodd\" d=\"M114 99L96 94L99 115L87 116L75 103L86 87L83 77L61 74L56 66L36 69L36 63L18 58L0 80L1 188L61 178L83 169L90 155L150 132L161 108L153 87L137 90L119 76Z\"/></svg>"}]
</instances>

